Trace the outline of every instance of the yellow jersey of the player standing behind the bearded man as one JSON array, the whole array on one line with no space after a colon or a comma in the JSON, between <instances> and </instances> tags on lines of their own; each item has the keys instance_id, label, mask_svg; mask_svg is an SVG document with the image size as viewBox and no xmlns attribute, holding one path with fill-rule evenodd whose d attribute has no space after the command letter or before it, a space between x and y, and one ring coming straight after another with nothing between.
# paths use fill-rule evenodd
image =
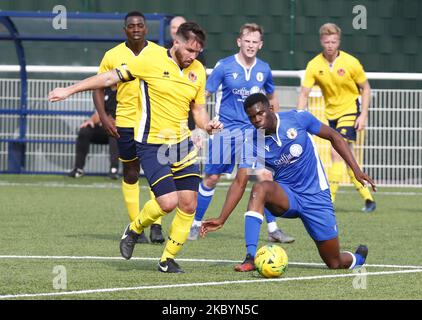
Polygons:
<instances>
[{"instance_id":1,"label":"yellow jersey of the player standing behind the bearded man","mask_svg":"<svg viewBox=\"0 0 422 320\"><path fill-rule=\"evenodd\" d=\"M135 56L123 42L108 50L101 61L98 73L116 69L123 64L128 64ZM119 82L117 84L117 109L116 126L134 128L139 121L139 80Z\"/></svg>"}]
</instances>

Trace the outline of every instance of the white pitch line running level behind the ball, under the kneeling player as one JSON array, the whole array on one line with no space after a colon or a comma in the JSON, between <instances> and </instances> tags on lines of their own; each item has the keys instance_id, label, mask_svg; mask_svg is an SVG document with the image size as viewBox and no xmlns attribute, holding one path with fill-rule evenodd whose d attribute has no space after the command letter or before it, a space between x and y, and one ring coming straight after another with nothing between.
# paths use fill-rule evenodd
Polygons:
<instances>
[{"instance_id":1,"label":"white pitch line running level behind the ball, under the kneeling player","mask_svg":"<svg viewBox=\"0 0 422 320\"><path fill-rule=\"evenodd\" d=\"M0 255L1 259L29 259L29 260L118 260L126 261L122 257L101 257L101 256L24 256L24 255ZM156 257L133 257L135 261L157 261ZM224 260L224 259L195 259L195 258L179 258L177 261L184 262L208 262L208 263L239 263L240 260ZM324 263L318 262L289 262L290 265L297 266L319 266L325 267ZM373 268L397 268L397 269L422 269L422 266L394 265L394 264L365 264L366 267Z\"/></svg>"}]
</instances>

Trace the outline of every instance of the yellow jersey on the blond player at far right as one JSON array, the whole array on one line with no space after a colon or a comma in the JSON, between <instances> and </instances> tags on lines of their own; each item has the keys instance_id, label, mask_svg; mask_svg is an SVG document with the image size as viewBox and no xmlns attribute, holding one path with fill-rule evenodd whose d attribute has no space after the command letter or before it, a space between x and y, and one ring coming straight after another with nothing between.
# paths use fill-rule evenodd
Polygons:
<instances>
[{"instance_id":1,"label":"yellow jersey on the blond player at far right","mask_svg":"<svg viewBox=\"0 0 422 320\"><path fill-rule=\"evenodd\" d=\"M312 88L317 84L321 88L325 117L333 120L358 111L357 99L360 94L357 84L365 81L365 71L359 60L340 51L331 67L322 53L309 61L302 85Z\"/></svg>"}]
</instances>

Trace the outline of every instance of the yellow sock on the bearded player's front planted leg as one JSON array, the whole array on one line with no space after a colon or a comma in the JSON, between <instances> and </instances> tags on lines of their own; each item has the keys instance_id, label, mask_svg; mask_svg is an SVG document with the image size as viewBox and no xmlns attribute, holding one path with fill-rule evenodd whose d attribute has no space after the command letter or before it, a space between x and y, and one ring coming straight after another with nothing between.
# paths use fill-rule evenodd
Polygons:
<instances>
[{"instance_id":1,"label":"yellow sock on the bearded player's front planted leg","mask_svg":"<svg viewBox=\"0 0 422 320\"><path fill-rule=\"evenodd\" d=\"M176 254L182 249L183 244L186 242L190 226L192 224L195 213L187 214L179 208L176 209L176 215L173 218L169 231L169 239L166 243L161 261L165 261L167 258L174 259Z\"/></svg>"}]
</instances>

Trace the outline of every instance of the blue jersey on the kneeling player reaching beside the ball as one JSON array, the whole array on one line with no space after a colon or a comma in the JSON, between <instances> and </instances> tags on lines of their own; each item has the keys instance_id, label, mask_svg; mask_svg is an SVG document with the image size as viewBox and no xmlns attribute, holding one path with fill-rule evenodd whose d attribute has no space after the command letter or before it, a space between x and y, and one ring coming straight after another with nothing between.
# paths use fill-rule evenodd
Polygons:
<instances>
[{"instance_id":1,"label":"blue jersey on the kneeling player reaching beside the ball","mask_svg":"<svg viewBox=\"0 0 422 320\"><path fill-rule=\"evenodd\" d=\"M265 165L274 181L292 191L316 194L329 188L312 135L322 123L307 111L276 113L277 132L265 137Z\"/></svg>"}]
</instances>

